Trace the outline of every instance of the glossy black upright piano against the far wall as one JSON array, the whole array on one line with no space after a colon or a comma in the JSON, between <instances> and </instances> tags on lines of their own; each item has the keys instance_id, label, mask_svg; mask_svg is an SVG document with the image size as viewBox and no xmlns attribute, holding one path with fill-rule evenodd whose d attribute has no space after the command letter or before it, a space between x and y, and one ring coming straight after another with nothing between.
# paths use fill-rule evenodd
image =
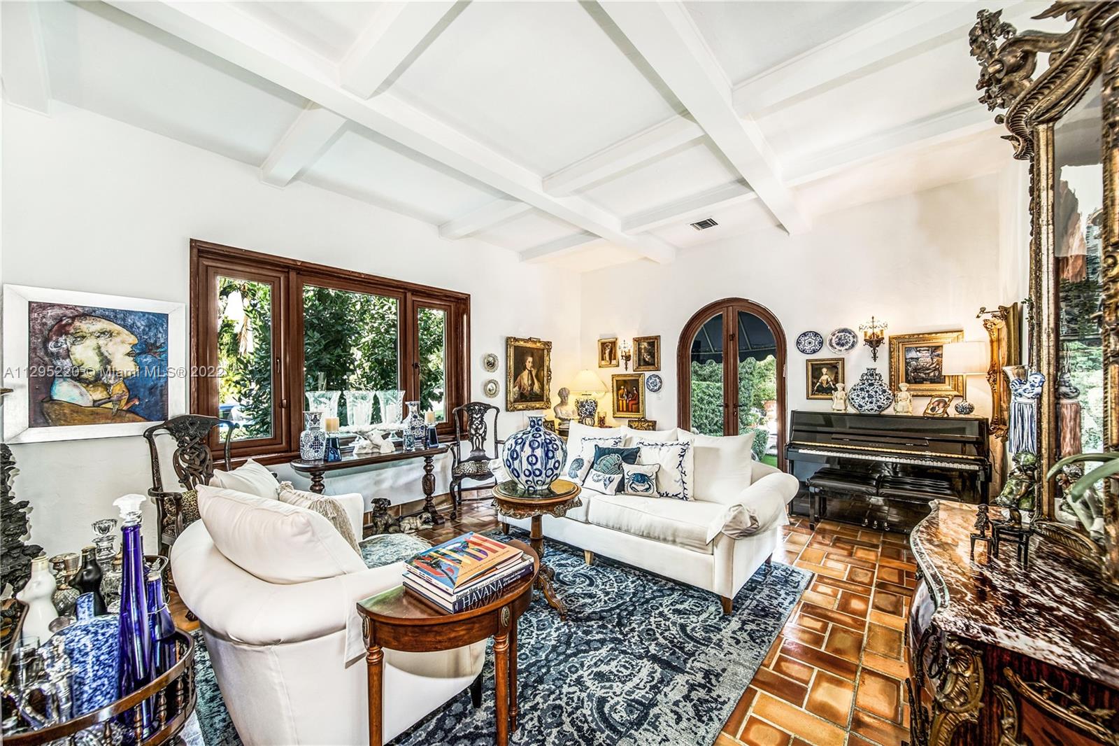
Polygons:
<instances>
[{"instance_id":1,"label":"glossy black upright piano against the far wall","mask_svg":"<svg viewBox=\"0 0 1119 746\"><path fill-rule=\"evenodd\" d=\"M931 497L987 502L987 420L792 412L786 445L794 513L909 532Z\"/></svg>"}]
</instances>

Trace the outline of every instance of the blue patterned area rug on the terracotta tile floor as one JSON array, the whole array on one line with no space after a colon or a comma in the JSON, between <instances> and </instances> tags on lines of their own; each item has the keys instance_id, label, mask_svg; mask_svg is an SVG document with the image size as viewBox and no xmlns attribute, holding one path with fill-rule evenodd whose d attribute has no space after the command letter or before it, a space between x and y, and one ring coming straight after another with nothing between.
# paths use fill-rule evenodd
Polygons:
<instances>
[{"instance_id":1,"label":"blue patterned area rug on the terracotta tile floor","mask_svg":"<svg viewBox=\"0 0 1119 746\"><path fill-rule=\"evenodd\" d=\"M518 623L520 717L511 740L524 746L709 746L811 579L788 565L763 566L723 616L709 591L609 559L587 567L565 544L548 541L546 559L568 613L561 622L537 597ZM195 636L205 744L239 746ZM492 650L483 677L482 707L463 691L393 746L490 746Z\"/></svg>"}]
</instances>

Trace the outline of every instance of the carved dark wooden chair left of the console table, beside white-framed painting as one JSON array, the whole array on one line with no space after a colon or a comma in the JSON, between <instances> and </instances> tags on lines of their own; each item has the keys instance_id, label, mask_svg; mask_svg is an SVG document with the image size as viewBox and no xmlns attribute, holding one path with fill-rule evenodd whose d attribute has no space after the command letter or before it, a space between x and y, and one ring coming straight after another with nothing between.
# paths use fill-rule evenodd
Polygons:
<instances>
[{"instance_id":1,"label":"carved dark wooden chair left of the console table, beside white-framed painting","mask_svg":"<svg viewBox=\"0 0 1119 746\"><path fill-rule=\"evenodd\" d=\"M159 532L159 553L169 557L171 544L182 530L198 520L197 500L184 501L184 493L199 484L206 484L214 476L214 458L209 449L209 435L215 427L225 425L225 456L223 467L229 470L229 437L237 427L228 420L204 414L180 414L144 430L151 453L151 489L148 495L156 502ZM175 438L171 466L178 477L178 491L163 486L159 465L157 437L167 435Z\"/></svg>"}]
</instances>

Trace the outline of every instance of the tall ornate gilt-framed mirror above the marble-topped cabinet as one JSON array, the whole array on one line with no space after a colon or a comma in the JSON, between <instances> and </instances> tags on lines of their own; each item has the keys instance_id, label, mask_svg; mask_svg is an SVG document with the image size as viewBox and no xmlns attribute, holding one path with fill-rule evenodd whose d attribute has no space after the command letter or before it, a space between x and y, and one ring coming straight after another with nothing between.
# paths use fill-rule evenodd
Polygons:
<instances>
[{"instance_id":1,"label":"tall ornate gilt-framed mirror above the marble-topped cabinet","mask_svg":"<svg viewBox=\"0 0 1119 746\"><path fill-rule=\"evenodd\" d=\"M1031 370L1045 375L1042 475L1064 456L1119 449L1119 2L1057 2L1036 18L1061 17L1072 24L1063 34L1019 34L981 11L970 36L979 101L1006 109L996 121L1031 162L1027 336ZM1035 526L1119 580L1110 482L1098 510L1094 522L1070 516L1045 481Z\"/></svg>"}]
</instances>

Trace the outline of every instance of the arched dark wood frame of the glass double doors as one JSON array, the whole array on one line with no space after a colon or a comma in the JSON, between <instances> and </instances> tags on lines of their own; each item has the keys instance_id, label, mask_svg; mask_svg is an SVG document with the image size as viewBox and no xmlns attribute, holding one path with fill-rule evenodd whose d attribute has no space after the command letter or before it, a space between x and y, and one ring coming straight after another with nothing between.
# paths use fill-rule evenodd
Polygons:
<instances>
[{"instance_id":1,"label":"arched dark wood frame of the glass double doors","mask_svg":"<svg viewBox=\"0 0 1119 746\"><path fill-rule=\"evenodd\" d=\"M676 346L676 380L677 401L676 416L679 426L686 430L692 429L692 341L698 334L703 325L720 314L723 315L723 433L739 433L739 408L734 404L739 399L739 355L735 335L737 334L737 313L746 311L765 321L773 333L777 343L777 362L780 366L777 371L777 460L781 470L786 468L784 460L784 431L786 419L788 418L787 400L784 394L784 379L787 369L787 346L784 329L777 316L770 309L760 304L745 298L723 298L707 304L684 325L680 332L680 341ZM728 324L727 319L733 317L734 323ZM734 354L728 354L728 351Z\"/></svg>"}]
</instances>

